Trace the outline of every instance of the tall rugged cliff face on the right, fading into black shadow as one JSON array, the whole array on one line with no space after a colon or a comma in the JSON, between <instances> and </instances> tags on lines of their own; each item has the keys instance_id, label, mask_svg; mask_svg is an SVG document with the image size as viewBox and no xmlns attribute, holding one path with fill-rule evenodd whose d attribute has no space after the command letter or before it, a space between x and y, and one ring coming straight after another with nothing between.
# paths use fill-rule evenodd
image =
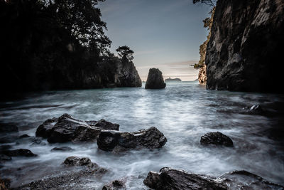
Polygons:
<instances>
[{"instance_id":1,"label":"tall rugged cliff face on the right, fading into black shadow","mask_svg":"<svg viewBox=\"0 0 284 190\"><path fill-rule=\"evenodd\" d=\"M207 45L207 89L283 93L283 0L219 0Z\"/></svg>"}]
</instances>

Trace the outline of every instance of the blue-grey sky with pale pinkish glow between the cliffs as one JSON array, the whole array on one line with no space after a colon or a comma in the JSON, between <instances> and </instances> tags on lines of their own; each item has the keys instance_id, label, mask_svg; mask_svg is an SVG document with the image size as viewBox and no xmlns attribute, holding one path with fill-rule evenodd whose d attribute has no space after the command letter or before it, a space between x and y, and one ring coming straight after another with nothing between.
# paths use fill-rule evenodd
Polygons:
<instances>
[{"instance_id":1,"label":"blue-grey sky with pale pinkish glow between the cliffs","mask_svg":"<svg viewBox=\"0 0 284 190\"><path fill-rule=\"evenodd\" d=\"M129 46L141 80L150 68L159 68L163 77L197 79L190 65L199 60L200 45L207 29L202 20L210 8L192 0L106 0L99 3L111 52Z\"/></svg>"}]
</instances>

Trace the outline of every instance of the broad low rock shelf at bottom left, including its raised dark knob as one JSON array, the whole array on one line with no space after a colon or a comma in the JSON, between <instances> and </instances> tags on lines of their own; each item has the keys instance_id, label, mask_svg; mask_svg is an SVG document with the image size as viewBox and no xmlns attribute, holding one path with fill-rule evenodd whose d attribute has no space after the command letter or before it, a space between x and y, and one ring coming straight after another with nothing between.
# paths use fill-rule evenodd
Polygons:
<instances>
[{"instance_id":1,"label":"broad low rock shelf at bottom left, including its raised dark knob","mask_svg":"<svg viewBox=\"0 0 284 190\"><path fill-rule=\"evenodd\" d=\"M97 189L94 185L108 172L107 169L92 163L89 158L68 157L63 165L65 167L60 173L45 176L14 189Z\"/></svg>"}]
</instances>

